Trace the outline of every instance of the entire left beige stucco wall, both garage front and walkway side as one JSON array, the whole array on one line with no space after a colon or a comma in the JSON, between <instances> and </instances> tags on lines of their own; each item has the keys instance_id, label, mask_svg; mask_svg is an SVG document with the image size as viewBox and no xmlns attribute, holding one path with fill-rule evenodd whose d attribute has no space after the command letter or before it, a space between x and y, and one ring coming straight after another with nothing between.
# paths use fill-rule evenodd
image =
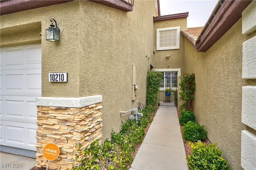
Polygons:
<instances>
[{"instance_id":1,"label":"entire left beige stucco wall, both garage front and walkway side","mask_svg":"<svg viewBox=\"0 0 256 170\"><path fill-rule=\"evenodd\" d=\"M146 73L154 50L154 8L154 1L135 1L132 12L90 1L73 1L3 15L1 47L42 42L42 97L102 95L104 141L110 138L112 130L118 132L121 122L130 115L120 111L136 108L138 101L145 104ZM60 42L45 40L50 18L60 28ZM135 101L132 64L136 65L138 85ZM68 73L68 82L49 82L50 72Z\"/></svg>"}]
</instances>

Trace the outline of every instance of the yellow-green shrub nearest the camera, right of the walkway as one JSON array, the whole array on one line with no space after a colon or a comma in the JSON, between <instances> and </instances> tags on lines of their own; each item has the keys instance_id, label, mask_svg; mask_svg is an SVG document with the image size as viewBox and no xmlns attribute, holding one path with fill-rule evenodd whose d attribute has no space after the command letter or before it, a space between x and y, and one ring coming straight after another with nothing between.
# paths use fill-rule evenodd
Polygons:
<instances>
[{"instance_id":1,"label":"yellow-green shrub nearest the camera, right of the walkway","mask_svg":"<svg viewBox=\"0 0 256 170\"><path fill-rule=\"evenodd\" d=\"M188 166L192 170L231 170L217 145L218 143L207 146L201 141L194 144L190 142L192 153L186 158Z\"/></svg>"}]
</instances>

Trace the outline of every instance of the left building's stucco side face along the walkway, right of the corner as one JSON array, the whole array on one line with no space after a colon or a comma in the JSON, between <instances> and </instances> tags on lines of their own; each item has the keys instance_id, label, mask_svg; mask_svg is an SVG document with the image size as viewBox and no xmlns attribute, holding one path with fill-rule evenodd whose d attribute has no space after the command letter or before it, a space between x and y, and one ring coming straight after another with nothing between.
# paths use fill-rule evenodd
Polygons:
<instances>
[{"instance_id":1,"label":"left building's stucco side face along the walkway, right of the corner","mask_svg":"<svg viewBox=\"0 0 256 170\"><path fill-rule=\"evenodd\" d=\"M103 139L119 131L131 113L120 114L146 101L146 74L153 58L154 1L136 1L132 12L80 2L80 96L100 94ZM86 10L90 9L90 10ZM100 11L100 13L99 13ZM93 25L93 27L92 27ZM148 55L148 57L146 57ZM150 59L148 59L150 58ZM136 66L132 101L132 65Z\"/></svg>"}]
</instances>

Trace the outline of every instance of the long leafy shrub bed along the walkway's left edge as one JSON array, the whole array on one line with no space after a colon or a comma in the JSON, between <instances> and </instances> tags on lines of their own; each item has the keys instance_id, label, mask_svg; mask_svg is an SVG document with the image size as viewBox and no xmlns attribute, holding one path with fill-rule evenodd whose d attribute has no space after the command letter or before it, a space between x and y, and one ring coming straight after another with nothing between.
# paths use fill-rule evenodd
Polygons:
<instances>
[{"instance_id":1,"label":"long leafy shrub bed along the walkway's left edge","mask_svg":"<svg viewBox=\"0 0 256 170\"><path fill-rule=\"evenodd\" d=\"M151 113L154 107L145 107L141 112L143 117L137 123L135 120L128 120L122 125L119 133L112 132L111 140L106 139L103 146L98 140L91 143L90 148L80 150L83 157L79 166L73 166L72 170L128 170L133 161L132 152L135 145L141 143L145 135L145 127L151 121ZM79 146L81 147L81 146Z\"/></svg>"}]
</instances>

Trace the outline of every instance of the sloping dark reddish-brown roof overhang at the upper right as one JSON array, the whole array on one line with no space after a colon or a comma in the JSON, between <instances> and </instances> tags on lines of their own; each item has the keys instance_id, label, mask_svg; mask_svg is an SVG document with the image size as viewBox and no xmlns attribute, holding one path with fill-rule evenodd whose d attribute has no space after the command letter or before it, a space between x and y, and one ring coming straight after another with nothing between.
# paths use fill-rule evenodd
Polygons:
<instances>
[{"instance_id":1,"label":"sloping dark reddish-brown roof overhang at the upper right","mask_svg":"<svg viewBox=\"0 0 256 170\"><path fill-rule=\"evenodd\" d=\"M219 0L195 42L196 50L207 51L242 17L242 12L251 2L252 0Z\"/></svg>"}]
</instances>

